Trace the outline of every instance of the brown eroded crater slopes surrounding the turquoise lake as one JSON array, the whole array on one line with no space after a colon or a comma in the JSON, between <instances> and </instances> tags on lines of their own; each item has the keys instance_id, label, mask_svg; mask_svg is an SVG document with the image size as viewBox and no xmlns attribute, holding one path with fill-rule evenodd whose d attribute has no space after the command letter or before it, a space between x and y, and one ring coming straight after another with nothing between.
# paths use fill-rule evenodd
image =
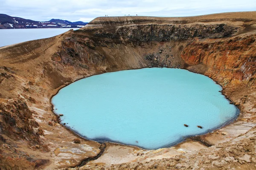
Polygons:
<instances>
[{"instance_id":1,"label":"brown eroded crater slopes surrounding the turquoise lake","mask_svg":"<svg viewBox=\"0 0 256 170\"><path fill-rule=\"evenodd\" d=\"M197 166L204 167L200 160L207 154L216 158L207 155L210 158L205 169L253 167L255 24L256 12L184 18L100 17L77 31L0 48L1 168L72 167L96 156L100 144L81 138L80 144L74 143L73 139L78 136L59 124L58 117L52 113L51 96L83 77L145 67L185 68L211 77L224 87L223 93L241 110L238 121L221 132L196 139L204 145L199 149L205 148L201 156L197 149L184 151L187 144L195 148L195 139L194 143L188 141L176 149L143 151L135 148L139 155L133 147L124 146L111 153L110 156L115 157L125 150L123 155L116 156L113 164L144 163L111 166L110 161L103 159L101 163L92 162L81 169L96 168L95 164L105 164L111 169L130 166L186 169L196 165L188 160L198 158ZM236 139L245 132L247 134ZM241 145L244 141L246 146ZM234 149L232 154L227 151L228 146ZM107 149L111 150L111 145ZM124 156L131 152L135 152L134 156ZM155 161L148 162L150 159Z\"/></svg>"}]
</instances>

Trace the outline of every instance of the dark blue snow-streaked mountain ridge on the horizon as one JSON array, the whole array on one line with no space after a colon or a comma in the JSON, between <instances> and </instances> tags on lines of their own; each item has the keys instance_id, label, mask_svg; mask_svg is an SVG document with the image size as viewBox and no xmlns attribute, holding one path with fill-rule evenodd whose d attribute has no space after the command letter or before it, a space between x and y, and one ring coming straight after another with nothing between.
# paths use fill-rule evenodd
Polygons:
<instances>
[{"instance_id":1,"label":"dark blue snow-streaked mountain ridge on the horizon","mask_svg":"<svg viewBox=\"0 0 256 170\"><path fill-rule=\"evenodd\" d=\"M87 23L82 21L70 22L68 20L51 19L49 21L34 21L20 17L12 17L6 14L0 14L0 29L18 29L18 28L81 28Z\"/></svg>"}]
</instances>

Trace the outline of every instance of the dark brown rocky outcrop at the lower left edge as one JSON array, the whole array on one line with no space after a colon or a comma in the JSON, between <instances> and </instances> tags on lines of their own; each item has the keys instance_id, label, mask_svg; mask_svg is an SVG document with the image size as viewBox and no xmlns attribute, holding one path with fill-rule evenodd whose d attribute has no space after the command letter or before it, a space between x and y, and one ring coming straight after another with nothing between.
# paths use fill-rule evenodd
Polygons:
<instances>
[{"instance_id":1,"label":"dark brown rocky outcrop at the lower left edge","mask_svg":"<svg viewBox=\"0 0 256 170\"><path fill-rule=\"evenodd\" d=\"M15 98L0 102L0 167L12 170L33 170L48 164L49 159L32 158L18 149L13 141L24 141L29 147L41 147L41 151L48 150L40 135L44 133L38 122L33 119L32 111L23 99ZM38 130L36 131L36 129Z\"/></svg>"}]
</instances>

